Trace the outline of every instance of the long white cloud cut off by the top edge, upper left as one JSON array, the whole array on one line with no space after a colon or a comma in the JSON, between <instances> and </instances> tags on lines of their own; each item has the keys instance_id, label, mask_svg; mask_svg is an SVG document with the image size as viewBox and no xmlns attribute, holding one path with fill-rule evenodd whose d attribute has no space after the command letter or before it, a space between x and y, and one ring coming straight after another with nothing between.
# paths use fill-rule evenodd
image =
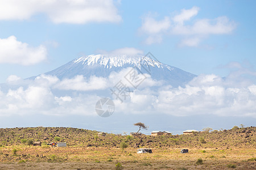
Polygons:
<instances>
[{"instance_id":1,"label":"long white cloud cut off by the top edge, upper left","mask_svg":"<svg viewBox=\"0 0 256 170\"><path fill-rule=\"evenodd\" d=\"M54 23L120 22L112 0L0 1L0 20L27 20L46 14Z\"/></svg>"}]
</instances>

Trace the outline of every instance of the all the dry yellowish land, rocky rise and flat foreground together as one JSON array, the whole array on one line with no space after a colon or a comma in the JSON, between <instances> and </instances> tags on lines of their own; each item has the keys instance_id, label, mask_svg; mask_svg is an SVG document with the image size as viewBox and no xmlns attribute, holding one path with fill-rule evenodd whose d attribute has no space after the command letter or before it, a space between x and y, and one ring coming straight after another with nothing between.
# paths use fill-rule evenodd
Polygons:
<instances>
[{"instance_id":1,"label":"all the dry yellowish land, rocky rise and flat foreground together","mask_svg":"<svg viewBox=\"0 0 256 170\"><path fill-rule=\"evenodd\" d=\"M130 137L113 134L98 137L95 135L96 131L86 131L87 135L81 137L84 142L79 142L80 138L76 138L75 132L80 134L81 130L74 129L75 132L70 133L75 138L68 137L73 142L62 148L45 145L46 142L42 146L31 147L26 143L17 142L18 139L15 142L15 138L27 134L18 133L22 131L19 129L7 129L13 132L10 135L2 133L0 138L1 141L6 141L2 142L0 147L0 169L256 169L255 129L249 128L250 133L243 133L240 128L227 130L226 133L215 131L209 134L170 137ZM6 132L6 129L0 129L0 133L1 130ZM224 142L223 133L227 137ZM52 140L46 139L44 135L46 134L40 134L40 141ZM36 136L34 141L35 138ZM200 138L205 141L200 142ZM121 141L128 144L123 152L119 148ZM151 147L153 153L137 154L133 141L141 142L140 147ZM188 148L189 153L180 154L182 148Z\"/></svg>"}]
</instances>

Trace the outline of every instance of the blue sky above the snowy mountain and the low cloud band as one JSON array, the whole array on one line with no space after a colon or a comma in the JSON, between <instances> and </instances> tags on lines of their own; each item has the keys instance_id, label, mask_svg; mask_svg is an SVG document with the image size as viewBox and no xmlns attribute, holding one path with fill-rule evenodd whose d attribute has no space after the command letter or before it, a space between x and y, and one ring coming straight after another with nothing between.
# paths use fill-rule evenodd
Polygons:
<instances>
[{"instance_id":1,"label":"blue sky above the snowy mountain and the low cloud band","mask_svg":"<svg viewBox=\"0 0 256 170\"><path fill-rule=\"evenodd\" d=\"M61 3L53 2L55 3L45 8L61 10L58 9ZM37 8L38 4L31 3L31 6L24 7L25 11L18 9L14 12L15 1L9 1L9 4L4 1L0 3L0 8L6 8L7 5L10 7L10 10L0 13L0 39L15 36L16 41L27 43L31 48L38 48L40 45L45 48L42 59L35 59L34 63L25 66L20 65L20 62L6 61L8 55L0 53L2 83L9 75L27 78L55 69L82 55L111 52L122 48L135 48L143 51L143 54L151 52L160 61L197 75L213 73L226 76L229 69L225 66L230 62L239 62L255 70L255 1L109 1L109 10L115 10L109 18L104 19L100 15L98 18L102 19L98 21L97 18L88 16L89 21L81 19L77 23L70 20L56 22L51 18L51 11L43 7ZM68 5L63 8L68 8ZM205 30L202 29L201 32L192 35L171 33L171 27L175 24L172 18L181 14L182 10L192 8L196 8L196 14L184 21L185 26L192 27L203 19L214 25L216 18L225 17L228 21L223 24L233 24L232 28L229 31L224 30L229 28L223 28L222 32L216 33L203 33ZM20 16L26 12L28 14L21 18ZM147 33L147 30L141 30L146 18L156 23L168 18L166 21L169 21L170 26L159 28L159 32ZM152 40L154 42L147 44L145 41L150 36L158 36L162 40L156 38ZM185 39L197 37L201 40L196 45L181 45ZM5 47L0 46L1 48ZM9 53L14 52L11 50ZM14 60L22 57L22 54L16 54ZM36 55L33 57L38 58Z\"/></svg>"}]
</instances>

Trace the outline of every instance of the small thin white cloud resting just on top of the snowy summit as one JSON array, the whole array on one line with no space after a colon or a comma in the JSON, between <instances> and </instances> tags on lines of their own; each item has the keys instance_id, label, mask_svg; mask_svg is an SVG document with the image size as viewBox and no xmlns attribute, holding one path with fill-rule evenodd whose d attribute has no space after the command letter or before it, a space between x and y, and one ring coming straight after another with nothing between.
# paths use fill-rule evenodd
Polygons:
<instances>
[{"instance_id":1,"label":"small thin white cloud resting just on top of the snowy summit","mask_svg":"<svg viewBox=\"0 0 256 170\"><path fill-rule=\"evenodd\" d=\"M119 48L109 52L105 50L98 50L97 52L101 54L117 54L117 55L121 55L121 54L142 55L143 54L143 50L139 50L137 48L132 48L132 47Z\"/></svg>"}]
</instances>

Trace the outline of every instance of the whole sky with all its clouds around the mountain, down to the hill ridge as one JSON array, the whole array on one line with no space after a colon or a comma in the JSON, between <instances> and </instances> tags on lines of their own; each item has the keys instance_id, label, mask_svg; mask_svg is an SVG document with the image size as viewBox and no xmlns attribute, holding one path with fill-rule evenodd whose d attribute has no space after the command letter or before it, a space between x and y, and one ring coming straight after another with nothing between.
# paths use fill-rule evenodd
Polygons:
<instances>
[{"instance_id":1,"label":"whole sky with all its clouds around the mountain, down to the hill ridge","mask_svg":"<svg viewBox=\"0 0 256 170\"><path fill-rule=\"evenodd\" d=\"M255 6L256 1L0 0L0 83L11 84L0 88L0 127L112 131L141 121L144 113L148 113L145 123L151 124L150 130L176 133L207 126L255 125ZM185 87L134 92L131 101L117 105L116 112L122 115L113 114L113 125L106 125L109 122L95 113L100 96L82 89L73 96L55 94L60 84L67 86L74 80L77 86L89 84L94 90L98 82L82 76L62 81L46 75L31 82L22 80L81 56L147 52L199 76ZM108 84L104 90L113 83L110 77L98 79ZM64 116L59 121L48 121L46 115L60 112ZM153 121L155 113L162 113L158 122ZM32 121L26 120L27 115ZM122 116L126 118L119 121ZM180 125L183 118L186 123ZM196 125L191 123L193 118Z\"/></svg>"}]
</instances>

